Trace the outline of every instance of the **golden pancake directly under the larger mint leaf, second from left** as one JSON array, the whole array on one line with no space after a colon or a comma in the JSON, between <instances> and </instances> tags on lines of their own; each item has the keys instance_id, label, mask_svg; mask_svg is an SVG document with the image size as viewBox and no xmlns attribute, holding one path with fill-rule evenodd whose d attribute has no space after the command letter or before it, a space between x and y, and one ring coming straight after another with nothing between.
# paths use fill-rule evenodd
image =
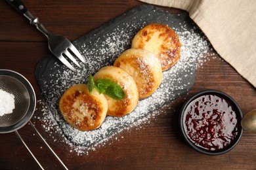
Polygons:
<instances>
[{"instance_id":1,"label":"golden pancake directly under the larger mint leaf, second from left","mask_svg":"<svg viewBox=\"0 0 256 170\"><path fill-rule=\"evenodd\" d=\"M108 78L116 82L125 92L125 98L121 100L113 99L105 95L108 101L108 115L125 116L137 107L139 101L139 92L133 76L129 75L123 69L114 66L102 67L94 76L94 80Z\"/></svg>"}]
</instances>

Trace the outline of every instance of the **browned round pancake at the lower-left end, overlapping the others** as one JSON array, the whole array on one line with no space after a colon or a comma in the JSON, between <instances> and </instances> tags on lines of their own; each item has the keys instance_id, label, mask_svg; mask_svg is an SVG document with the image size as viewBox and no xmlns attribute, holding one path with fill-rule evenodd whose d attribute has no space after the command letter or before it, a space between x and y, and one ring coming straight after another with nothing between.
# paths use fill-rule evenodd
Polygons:
<instances>
[{"instance_id":1,"label":"browned round pancake at the lower-left end, overlapping the others","mask_svg":"<svg viewBox=\"0 0 256 170\"><path fill-rule=\"evenodd\" d=\"M108 102L95 89L90 94L86 84L75 84L64 92L59 108L71 126L81 131L90 131L100 127L105 120Z\"/></svg>"}]
</instances>

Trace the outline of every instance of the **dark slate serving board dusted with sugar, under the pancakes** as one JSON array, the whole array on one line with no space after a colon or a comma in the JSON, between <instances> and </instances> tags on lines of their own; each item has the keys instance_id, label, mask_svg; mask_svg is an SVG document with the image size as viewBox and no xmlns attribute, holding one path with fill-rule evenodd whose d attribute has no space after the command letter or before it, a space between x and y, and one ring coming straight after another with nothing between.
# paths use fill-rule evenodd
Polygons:
<instances>
[{"instance_id":1,"label":"dark slate serving board dusted with sugar, under the pancakes","mask_svg":"<svg viewBox=\"0 0 256 170\"><path fill-rule=\"evenodd\" d=\"M151 23L168 25L182 43L181 58L171 69L163 72L160 88L152 96L140 99L139 105L130 114L121 118L107 116L99 129L78 131L66 123L58 110L62 93L74 84L86 84L89 74L94 75L101 67L112 65L123 51L131 48L135 34ZM194 84L197 60L210 46L187 12L170 14L152 5L129 10L73 43L87 63L78 73L73 73L49 54L37 64L35 77L49 105L49 112L53 114L65 137L72 144L85 148L106 141L123 129L145 122L154 110L188 92Z\"/></svg>"}]
</instances>

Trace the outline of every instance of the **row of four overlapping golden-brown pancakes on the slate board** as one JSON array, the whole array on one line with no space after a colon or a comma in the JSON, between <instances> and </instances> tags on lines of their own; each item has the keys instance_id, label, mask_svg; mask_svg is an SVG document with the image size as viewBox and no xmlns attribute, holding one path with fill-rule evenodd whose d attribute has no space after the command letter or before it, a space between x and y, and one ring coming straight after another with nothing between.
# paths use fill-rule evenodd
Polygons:
<instances>
[{"instance_id":1,"label":"row of four overlapping golden-brown pancakes on the slate board","mask_svg":"<svg viewBox=\"0 0 256 170\"><path fill-rule=\"evenodd\" d=\"M87 84L75 84L62 95L59 107L64 119L81 131L100 127L106 114L125 116L139 99L149 97L160 86L162 71L180 58L181 42L167 25L149 24L135 35L131 48L125 50L113 66L102 67L93 80L110 79L125 92L123 99L113 99Z\"/></svg>"}]
</instances>

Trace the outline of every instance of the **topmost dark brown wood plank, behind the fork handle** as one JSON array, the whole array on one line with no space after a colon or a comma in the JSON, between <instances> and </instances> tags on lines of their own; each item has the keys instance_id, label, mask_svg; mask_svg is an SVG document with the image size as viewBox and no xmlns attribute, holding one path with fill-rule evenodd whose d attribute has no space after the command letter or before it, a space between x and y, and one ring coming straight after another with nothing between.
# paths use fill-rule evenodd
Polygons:
<instances>
[{"instance_id":1,"label":"topmost dark brown wood plank, behind the fork handle","mask_svg":"<svg viewBox=\"0 0 256 170\"><path fill-rule=\"evenodd\" d=\"M66 36L70 41L99 27L139 1L24 1L27 9L38 17L49 32ZM0 37L4 41L47 41L28 20L3 1Z\"/></svg>"}]
</instances>

